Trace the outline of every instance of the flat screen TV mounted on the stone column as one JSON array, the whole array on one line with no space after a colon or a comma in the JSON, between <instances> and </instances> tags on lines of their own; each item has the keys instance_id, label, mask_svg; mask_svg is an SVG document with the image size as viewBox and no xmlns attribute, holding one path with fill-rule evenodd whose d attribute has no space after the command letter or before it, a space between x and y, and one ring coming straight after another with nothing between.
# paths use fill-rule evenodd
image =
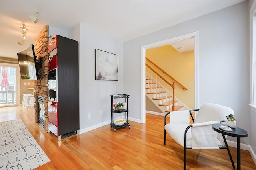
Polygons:
<instances>
[{"instance_id":1,"label":"flat screen TV mounted on the stone column","mask_svg":"<svg viewBox=\"0 0 256 170\"><path fill-rule=\"evenodd\" d=\"M31 44L30 47L17 53L18 61L20 65L20 75L21 79L30 79L30 80L38 80L39 76L39 68L36 62L36 55L34 51L34 45Z\"/></svg>"}]
</instances>

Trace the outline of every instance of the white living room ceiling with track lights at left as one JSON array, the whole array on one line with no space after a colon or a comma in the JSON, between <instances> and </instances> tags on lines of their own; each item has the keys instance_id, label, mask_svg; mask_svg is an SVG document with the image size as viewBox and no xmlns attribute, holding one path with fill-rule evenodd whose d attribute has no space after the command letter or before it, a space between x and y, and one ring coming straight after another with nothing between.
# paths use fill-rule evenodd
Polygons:
<instances>
[{"instance_id":1,"label":"white living room ceiling with track lights at left","mask_svg":"<svg viewBox=\"0 0 256 170\"><path fill-rule=\"evenodd\" d=\"M17 53L34 43L44 25L64 31L85 23L120 41L232 6L244 0L0 0L0 56ZM28 19L39 12L39 21ZM20 23L28 28L24 45Z\"/></svg>"}]
</instances>

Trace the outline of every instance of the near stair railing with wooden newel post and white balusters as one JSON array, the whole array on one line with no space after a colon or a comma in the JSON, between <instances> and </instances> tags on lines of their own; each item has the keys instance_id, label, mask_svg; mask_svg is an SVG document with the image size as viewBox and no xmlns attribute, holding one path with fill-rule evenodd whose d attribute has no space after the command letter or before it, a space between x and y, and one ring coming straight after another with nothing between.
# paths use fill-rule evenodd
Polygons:
<instances>
[{"instance_id":1,"label":"near stair railing with wooden newel post and white balusters","mask_svg":"<svg viewBox=\"0 0 256 170\"><path fill-rule=\"evenodd\" d=\"M172 91L172 111L175 111L175 82L172 82L170 84L165 78L163 78L160 74L158 74L155 70L153 70L148 64L146 64L146 73L148 74L148 83L146 88L150 88L150 93L155 93L156 96L161 96L162 93L162 100L169 98L169 101L171 101L171 91ZM162 81L162 83L161 83ZM153 84L153 85L152 85ZM156 84L156 87L155 87ZM165 85L165 87L164 87ZM159 91L157 90L159 86ZM162 91L160 90L162 88ZM169 96L167 93L167 89L169 90ZM164 91L166 90L166 92ZM164 96L164 93L166 94ZM167 102L166 102L167 103ZM171 102L169 102L169 108L171 106Z\"/></svg>"}]
</instances>

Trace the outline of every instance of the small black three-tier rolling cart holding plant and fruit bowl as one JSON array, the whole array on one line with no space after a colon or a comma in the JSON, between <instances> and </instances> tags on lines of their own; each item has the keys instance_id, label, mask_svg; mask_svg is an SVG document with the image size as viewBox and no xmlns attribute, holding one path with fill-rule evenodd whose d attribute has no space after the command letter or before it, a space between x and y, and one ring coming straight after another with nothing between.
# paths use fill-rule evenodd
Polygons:
<instances>
[{"instance_id":1,"label":"small black three-tier rolling cart holding plant and fruit bowl","mask_svg":"<svg viewBox=\"0 0 256 170\"><path fill-rule=\"evenodd\" d=\"M110 126L114 129L114 131L116 131L116 129L122 128L122 127L129 127L130 129L130 125L128 122L128 98L130 95L128 94L110 94L110 98L111 98L111 123ZM119 110L115 110L113 108L113 104L114 102L116 102L117 99L124 99L125 100L125 108L122 111ZM120 101L117 101L120 102ZM114 124L114 114L116 113L125 113L125 119L126 122L123 125L115 125Z\"/></svg>"}]
</instances>

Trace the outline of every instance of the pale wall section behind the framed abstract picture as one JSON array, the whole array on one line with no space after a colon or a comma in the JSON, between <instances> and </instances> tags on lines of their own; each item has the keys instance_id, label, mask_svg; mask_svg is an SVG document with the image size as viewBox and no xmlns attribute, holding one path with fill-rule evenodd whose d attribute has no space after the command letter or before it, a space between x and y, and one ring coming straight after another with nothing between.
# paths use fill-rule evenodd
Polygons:
<instances>
[{"instance_id":1,"label":"pale wall section behind the framed abstract picture","mask_svg":"<svg viewBox=\"0 0 256 170\"><path fill-rule=\"evenodd\" d=\"M123 43L80 23L80 133L110 124L110 94L123 92ZM118 55L118 81L95 80L95 49ZM100 111L103 115L100 116ZM92 118L88 119L88 113Z\"/></svg>"}]
</instances>

